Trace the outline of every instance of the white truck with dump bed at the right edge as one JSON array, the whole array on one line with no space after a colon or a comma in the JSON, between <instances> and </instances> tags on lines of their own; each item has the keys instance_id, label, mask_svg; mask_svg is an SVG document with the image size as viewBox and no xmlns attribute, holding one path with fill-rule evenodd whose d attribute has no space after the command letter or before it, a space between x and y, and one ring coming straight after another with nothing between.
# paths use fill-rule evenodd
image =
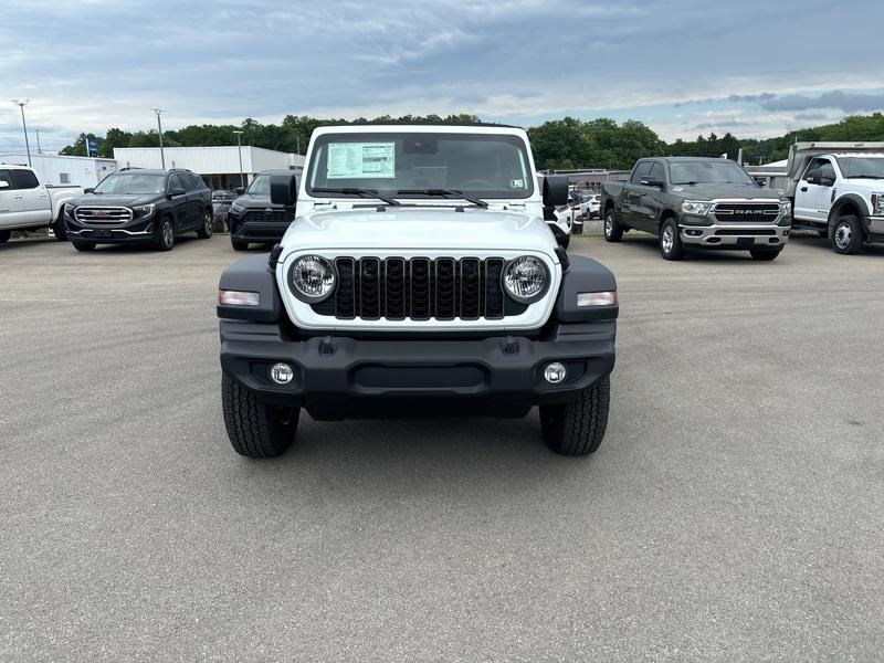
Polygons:
<instances>
[{"instance_id":1,"label":"white truck with dump bed at the right edge","mask_svg":"<svg viewBox=\"0 0 884 663\"><path fill-rule=\"evenodd\" d=\"M797 143L787 171L792 228L844 254L884 242L884 143Z\"/></svg>"}]
</instances>

